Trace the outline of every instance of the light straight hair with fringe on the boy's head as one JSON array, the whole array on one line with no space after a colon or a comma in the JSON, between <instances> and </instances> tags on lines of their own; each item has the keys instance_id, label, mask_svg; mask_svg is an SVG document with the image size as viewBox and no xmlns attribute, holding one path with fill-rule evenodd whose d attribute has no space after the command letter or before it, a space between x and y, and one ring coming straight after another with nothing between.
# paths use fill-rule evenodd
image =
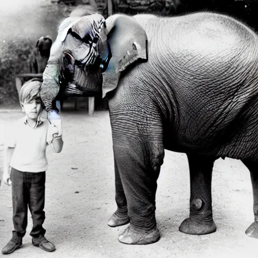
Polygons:
<instances>
[{"instance_id":1,"label":"light straight hair with fringe on the boy's head","mask_svg":"<svg viewBox=\"0 0 258 258\"><path fill-rule=\"evenodd\" d=\"M20 91L20 104L25 102L30 102L36 98L40 99L40 88L42 85L42 81L31 79L26 82Z\"/></svg>"}]
</instances>

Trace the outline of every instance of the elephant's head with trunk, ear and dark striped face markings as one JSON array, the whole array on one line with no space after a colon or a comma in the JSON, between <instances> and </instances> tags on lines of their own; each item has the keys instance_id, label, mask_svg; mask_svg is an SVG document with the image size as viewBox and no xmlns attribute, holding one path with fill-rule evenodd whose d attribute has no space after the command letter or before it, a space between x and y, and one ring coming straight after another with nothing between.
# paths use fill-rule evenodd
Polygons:
<instances>
[{"instance_id":1,"label":"elephant's head with trunk, ear and dark striped face markings","mask_svg":"<svg viewBox=\"0 0 258 258\"><path fill-rule=\"evenodd\" d=\"M133 17L114 15L105 20L94 14L67 18L59 27L43 73L41 98L46 111L53 110L57 94L98 95L102 73L118 79L137 59L147 60L147 37Z\"/></svg>"}]
</instances>

